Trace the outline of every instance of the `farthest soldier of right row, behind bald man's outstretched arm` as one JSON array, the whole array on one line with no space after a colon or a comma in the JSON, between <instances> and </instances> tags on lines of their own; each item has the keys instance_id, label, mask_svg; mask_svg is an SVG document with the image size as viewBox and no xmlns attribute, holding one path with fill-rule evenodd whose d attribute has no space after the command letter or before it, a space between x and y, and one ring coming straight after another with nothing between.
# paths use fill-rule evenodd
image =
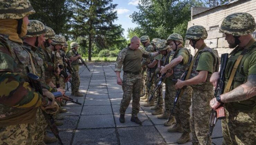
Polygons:
<instances>
[{"instance_id":1,"label":"farthest soldier of right row, behind bald man's outstretched arm","mask_svg":"<svg viewBox=\"0 0 256 145\"><path fill-rule=\"evenodd\" d=\"M148 36L141 36L140 37L140 42L142 43L143 47L145 50L150 50L152 49L152 45L150 45L150 40ZM146 51L147 51L146 50ZM148 98L148 90L147 90L147 60L146 58L142 58L141 61L141 75L142 75L142 84L141 84L141 101L147 102Z\"/></svg>"}]
</instances>

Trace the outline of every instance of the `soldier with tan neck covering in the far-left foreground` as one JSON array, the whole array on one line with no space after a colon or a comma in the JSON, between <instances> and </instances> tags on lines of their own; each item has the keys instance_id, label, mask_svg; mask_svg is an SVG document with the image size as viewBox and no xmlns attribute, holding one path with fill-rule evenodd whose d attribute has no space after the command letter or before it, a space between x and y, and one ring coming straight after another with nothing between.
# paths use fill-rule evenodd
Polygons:
<instances>
[{"instance_id":1,"label":"soldier with tan neck covering in the far-left foreground","mask_svg":"<svg viewBox=\"0 0 256 145\"><path fill-rule=\"evenodd\" d=\"M52 113L58 108L54 100L48 99L53 99L51 94L45 91L45 98L25 81L33 62L20 37L27 33L28 15L35 13L30 2L4 1L0 9L0 139L3 144L32 145L37 142L38 107L52 108Z\"/></svg>"}]
</instances>

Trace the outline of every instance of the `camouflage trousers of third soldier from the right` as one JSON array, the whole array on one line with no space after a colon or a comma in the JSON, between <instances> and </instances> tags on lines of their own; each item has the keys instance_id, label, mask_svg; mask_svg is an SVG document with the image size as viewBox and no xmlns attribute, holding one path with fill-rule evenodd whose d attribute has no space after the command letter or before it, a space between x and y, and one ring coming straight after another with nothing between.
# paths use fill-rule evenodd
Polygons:
<instances>
[{"instance_id":1,"label":"camouflage trousers of third soldier from the right","mask_svg":"<svg viewBox=\"0 0 256 145\"><path fill-rule=\"evenodd\" d=\"M177 90L175 90L175 95ZM187 86L184 90L184 93L179 97L178 102L174 108L174 116L177 124L181 124L185 133L190 133L189 119L190 119L190 110L192 97L192 87Z\"/></svg>"}]
</instances>

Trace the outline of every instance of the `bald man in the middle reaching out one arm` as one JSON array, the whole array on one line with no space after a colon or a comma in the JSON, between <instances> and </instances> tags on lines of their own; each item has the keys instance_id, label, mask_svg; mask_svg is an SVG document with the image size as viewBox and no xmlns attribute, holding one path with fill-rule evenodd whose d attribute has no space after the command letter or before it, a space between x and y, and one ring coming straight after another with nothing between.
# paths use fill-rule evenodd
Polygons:
<instances>
[{"instance_id":1,"label":"bald man in the middle reaching out one arm","mask_svg":"<svg viewBox=\"0 0 256 145\"><path fill-rule=\"evenodd\" d=\"M131 121L137 124L142 124L137 114L139 112L139 100L141 90L141 59L142 57L155 57L158 52L147 52L139 48L140 39L137 36L132 37L131 43L122 49L118 56L115 66L117 75L117 84L122 86L124 91L123 98L120 103L120 118L121 123L125 122L125 111L130 103L132 96L132 113ZM121 68L123 66L124 76L123 81L120 78Z\"/></svg>"}]
</instances>

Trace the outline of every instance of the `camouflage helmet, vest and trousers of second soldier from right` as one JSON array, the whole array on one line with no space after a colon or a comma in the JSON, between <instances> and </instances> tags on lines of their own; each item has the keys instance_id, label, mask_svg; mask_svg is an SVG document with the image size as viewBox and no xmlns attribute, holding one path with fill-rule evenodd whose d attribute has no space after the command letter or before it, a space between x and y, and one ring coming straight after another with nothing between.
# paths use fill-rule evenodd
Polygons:
<instances>
[{"instance_id":1,"label":"camouflage helmet, vest and trousers of second soldier from right","mask_svg":"<svg viewBox=\"0 0 256 145\"><path fill-rule=\"evenodd\" d=\"M186 33L186 38L192 40L206 39L207 36L207 31L202 26L192 26ZM194 63L191 64L193 67L190 78L193 78L199 74L199 72L196 70L199 64L199 59L200 56L206 52L210 53L214 60L212 71L215 72L218 70L219 56L217 50L213 50L204 44L201 48L199 48L195 54L195 57L193 58ZM208 143L205 143L209 131L209 117L211 111L209 102L213 98L213 85L210 83L210 77L211 72L208 72L205 83L192 85L193 95L190 129L193 136L193 144L211 144L211 139L209 139Z\"/></svg>"}]
</instances>

